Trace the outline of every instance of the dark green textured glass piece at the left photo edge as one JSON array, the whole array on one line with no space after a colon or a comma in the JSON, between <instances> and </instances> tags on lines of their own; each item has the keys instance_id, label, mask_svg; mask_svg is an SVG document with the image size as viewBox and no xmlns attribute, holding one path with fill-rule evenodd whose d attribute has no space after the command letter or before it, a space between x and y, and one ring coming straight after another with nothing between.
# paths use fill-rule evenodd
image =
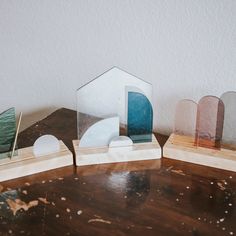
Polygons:
<instances>
[{"instance_id":1,"label":"dark green textured glass piece at the left photo edge","mask_svg":"<svg viewBox=\"0 0 236 236\"><path fill-rule=\"evenodd\" d=\"M15 108L10 108L0 114L0 159L10 157L10 152L15 139L15 133Z\"/></svg>"}]
</instances>

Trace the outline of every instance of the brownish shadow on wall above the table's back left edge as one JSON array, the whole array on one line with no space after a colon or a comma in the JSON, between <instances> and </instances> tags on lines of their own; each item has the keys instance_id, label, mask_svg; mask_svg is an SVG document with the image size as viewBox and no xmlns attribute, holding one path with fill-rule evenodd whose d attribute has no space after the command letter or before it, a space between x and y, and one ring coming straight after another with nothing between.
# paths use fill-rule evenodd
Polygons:
<instances>
[{"instance_id":1,"label":"brownish shadow on wall above the table's back left edge","mask_svg":"<svg viewBox=\"0 0 236 236\"><path fill-rule=\"evenodd\" d=\"M59 107L53 106L53 107L45 107L45 108L37 109L30 113L23 113L20 132L30 127L37 121L42 120L43 118L47 117L49 114L56 111L57 109L59 109ZM18 121L18 115L17 115L17 121Z\"/></svg>"}]
</instances>

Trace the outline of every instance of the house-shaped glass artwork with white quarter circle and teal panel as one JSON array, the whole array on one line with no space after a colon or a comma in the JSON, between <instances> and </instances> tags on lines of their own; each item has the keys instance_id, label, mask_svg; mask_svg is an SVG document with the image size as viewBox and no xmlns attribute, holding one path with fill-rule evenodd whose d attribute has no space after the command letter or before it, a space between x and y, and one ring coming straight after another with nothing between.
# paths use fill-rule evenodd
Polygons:
<instances>
[{"instance_id":1,"label":"house-shaped glass artwork with white quarter circle and teal panel","mask_svg":"<svg viewBox=\"0 0 236 236\"><path fill-rule=\"evenodd\" d=\"M79 147L129 144L128 137L133 142L152 141L151 97L151 84L116 67L80 87Z\"/></svg>"}]
</instances>

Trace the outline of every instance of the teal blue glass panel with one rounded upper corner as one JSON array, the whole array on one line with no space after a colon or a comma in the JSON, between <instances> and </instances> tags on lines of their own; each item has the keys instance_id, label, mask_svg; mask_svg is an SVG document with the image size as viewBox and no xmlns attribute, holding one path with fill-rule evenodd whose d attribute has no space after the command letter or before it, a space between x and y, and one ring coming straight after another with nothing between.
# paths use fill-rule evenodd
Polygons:
<instances>
[{"instance_id":1,"label":"teal blue glass panel with one rounded upper corner","mask_svg":"<svg viewBox=\"0 0 236 236\"><path fill-rule=\"evenodd\" d=\"M142 93L128 92L127 126L127 135L134 143L152 141L152 105Z\"/></svg>"}]
</instances>

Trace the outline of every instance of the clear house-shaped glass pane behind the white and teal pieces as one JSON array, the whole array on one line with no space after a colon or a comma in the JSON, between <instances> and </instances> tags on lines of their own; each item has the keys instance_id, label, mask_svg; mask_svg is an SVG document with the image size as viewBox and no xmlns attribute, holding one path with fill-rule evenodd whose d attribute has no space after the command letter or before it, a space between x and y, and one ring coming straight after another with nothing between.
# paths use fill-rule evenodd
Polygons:
<instances>
[{"instance_id":1,"label":"clear house-shaped glass pane behind the white and teal pieces","mask_svg":"<svg viewBox=\"0 0 236 236\"><path fill-rule=\"evenodd\" d=\"M97 122L117 116L120 122L120 133L127 135L128 88L136 88L142 91L143 95L151 101L151 84L116 67L77 90L79 140ZM104 125L106 121L101 123ZM92 131L90 130L89 132Z\"/></svg>"}]
</instances>

